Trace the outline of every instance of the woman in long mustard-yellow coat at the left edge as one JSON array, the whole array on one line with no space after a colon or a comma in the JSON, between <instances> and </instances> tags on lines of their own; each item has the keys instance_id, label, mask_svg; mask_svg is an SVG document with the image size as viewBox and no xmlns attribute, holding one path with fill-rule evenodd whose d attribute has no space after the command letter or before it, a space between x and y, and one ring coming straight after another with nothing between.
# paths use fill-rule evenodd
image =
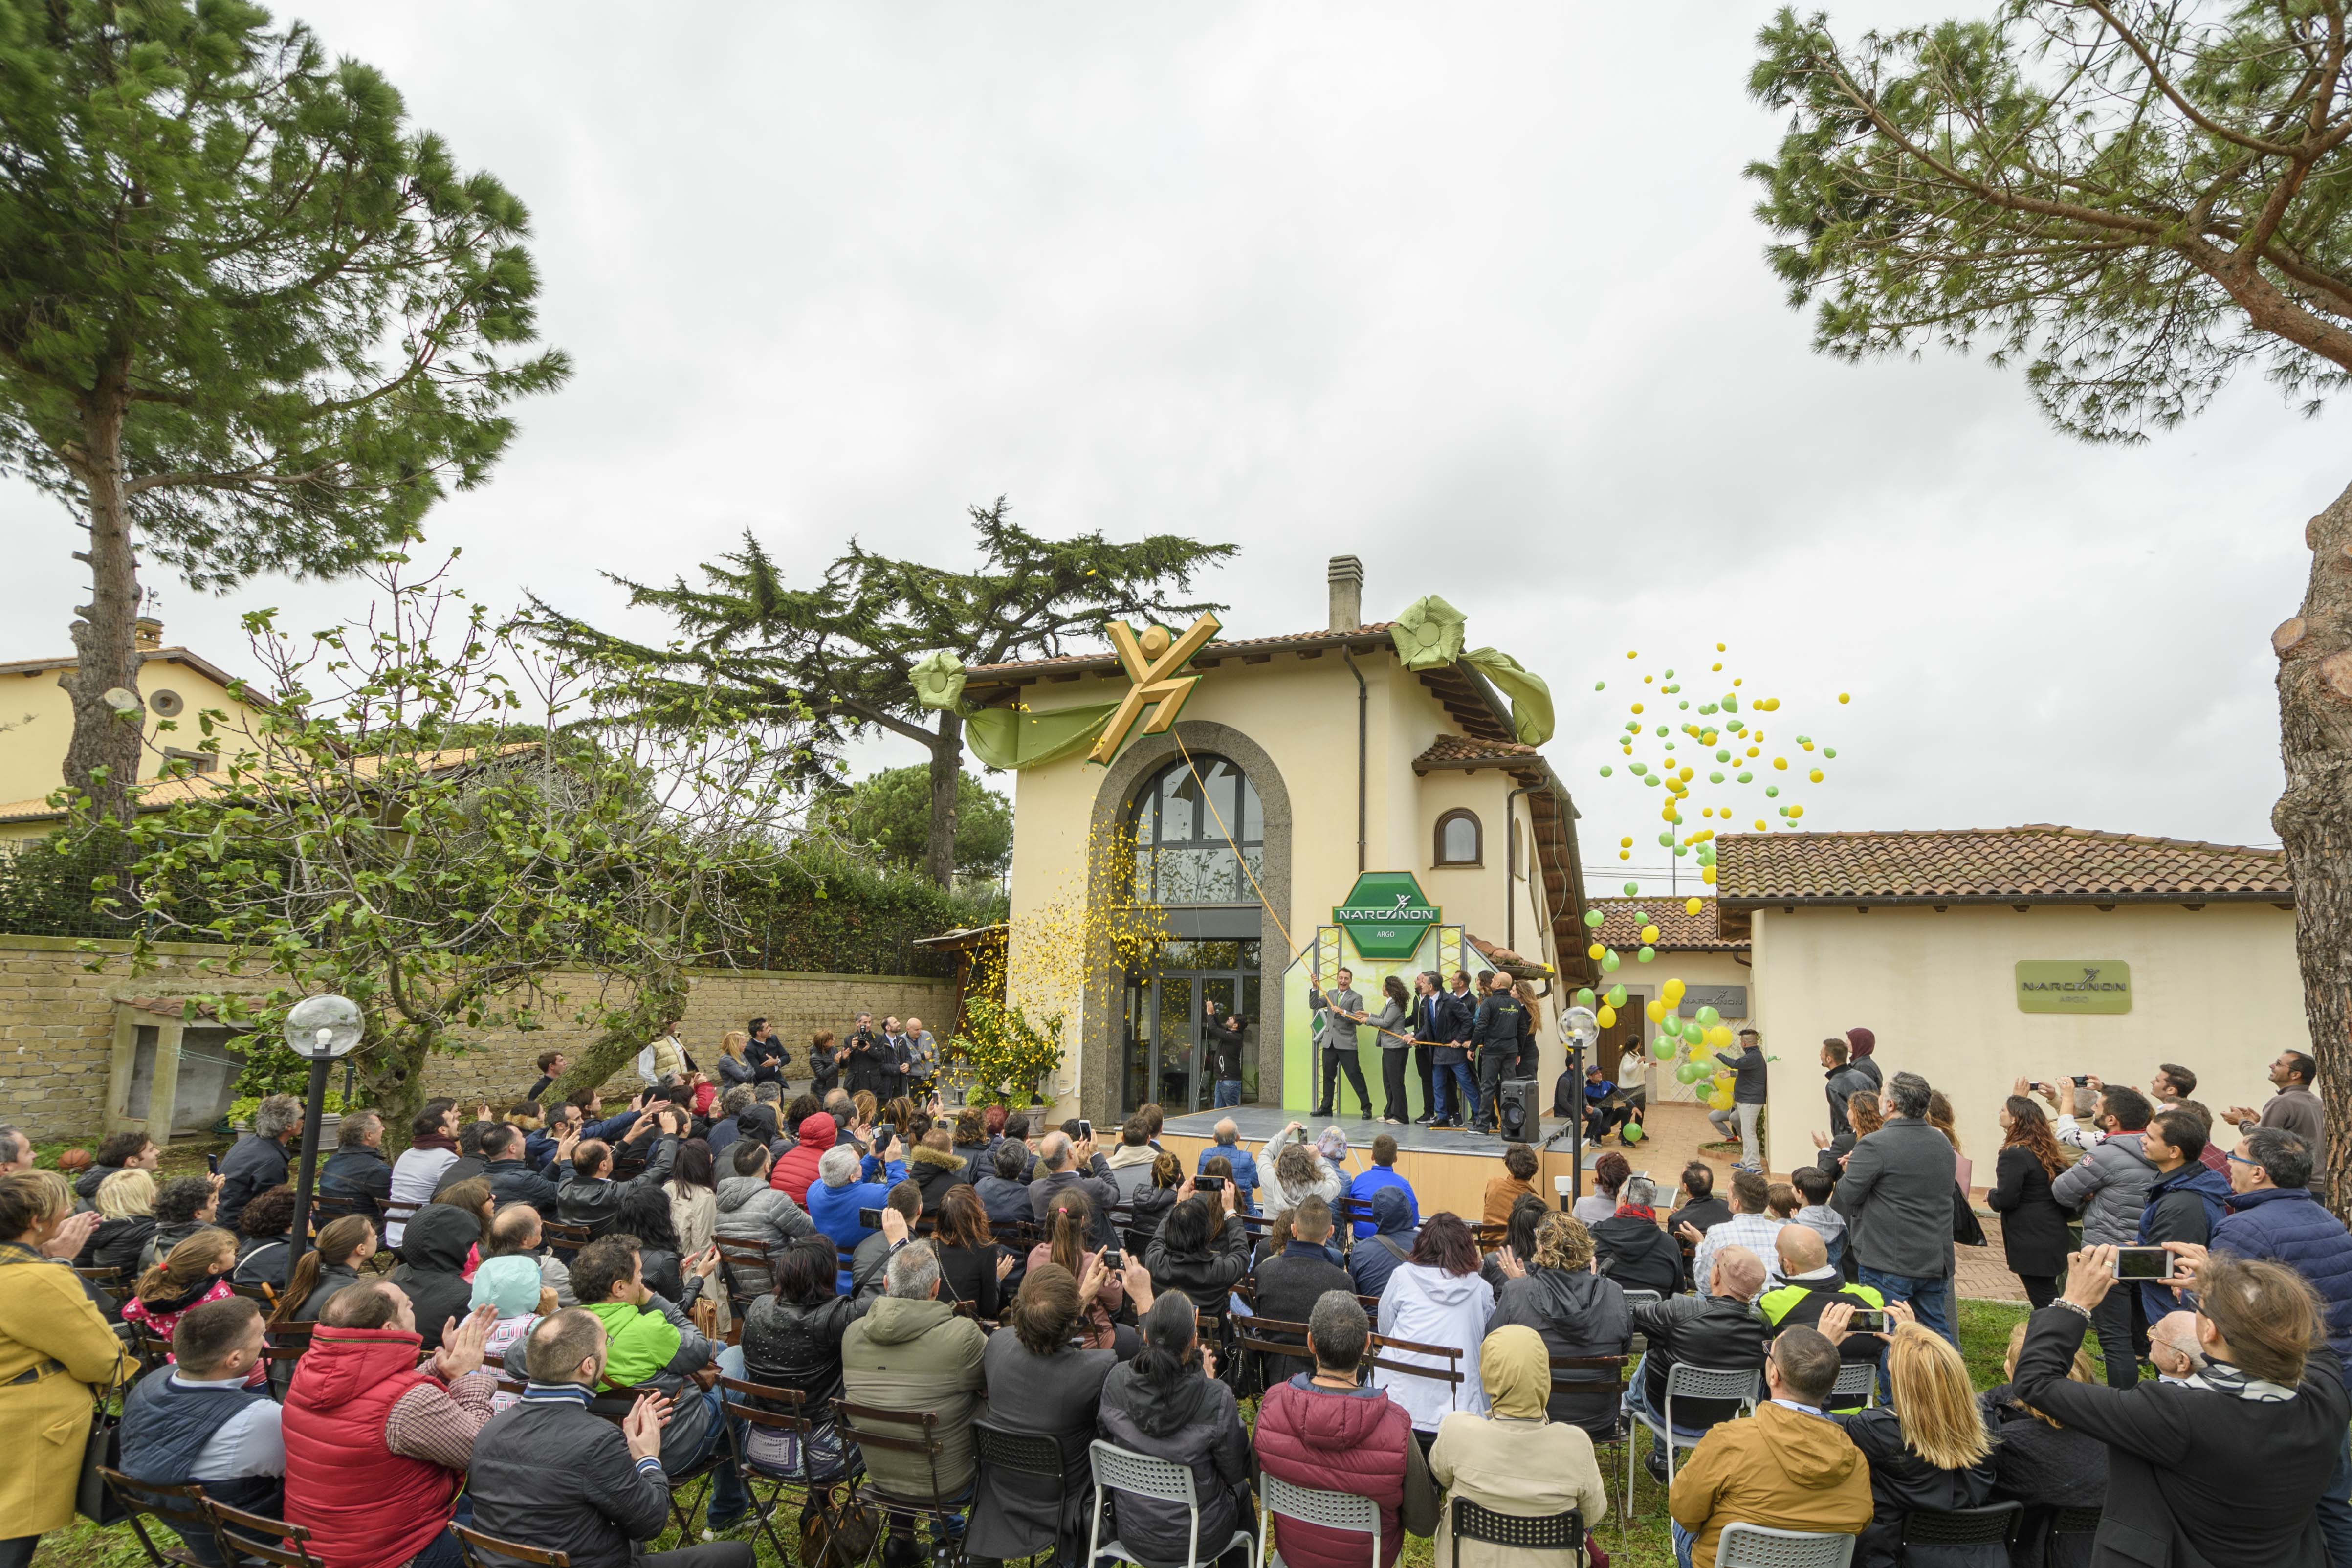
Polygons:
<instances>
[{"instance_id":1,"label":"woman in long mustard-yellow coat at the left edge","mask_svg":"<svg viewBox=\"0 0 2352 1568\"><path fill-rule=\"evenodd\" d=\"M136 1363L75 1279L96 1215L73 1213L56 1171L0 1175L0 1568L26 1568L45 1530L73 1519L94 1399Z\"/></svg>"}]
</instances>

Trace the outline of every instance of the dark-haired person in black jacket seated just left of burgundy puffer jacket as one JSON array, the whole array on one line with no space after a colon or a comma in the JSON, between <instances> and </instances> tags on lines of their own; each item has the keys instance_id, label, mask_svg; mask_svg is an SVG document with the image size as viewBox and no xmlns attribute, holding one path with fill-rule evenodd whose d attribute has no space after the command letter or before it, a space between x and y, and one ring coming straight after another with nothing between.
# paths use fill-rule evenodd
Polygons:
<instances>
[{"instance_id":1,"label":"dark-haired person in black jacket seated just left of burgundy puffer jacket","mask_svg":"<svg viewBox=\"0 0 2352 1568\"><path fill-rule=\"evenodd\" d=\"M1120 1448L1192 1472L1202 1563L1235 1568L1254 1556L1249 1542L1228 1552L1235 1533L1256 1535L1249 1432L1232 1389L1216 1378L1216 1352L1200 1342L1197 1312L1183 1291L1162 1291L1143 1314L1143 1349L1103 1380L1098 1429ZM1192 1540L1185 1505L1115 1488L1110 1497L1129 1552L1155 1563L1185 1561Z\"/></svg>"}]
</instances>

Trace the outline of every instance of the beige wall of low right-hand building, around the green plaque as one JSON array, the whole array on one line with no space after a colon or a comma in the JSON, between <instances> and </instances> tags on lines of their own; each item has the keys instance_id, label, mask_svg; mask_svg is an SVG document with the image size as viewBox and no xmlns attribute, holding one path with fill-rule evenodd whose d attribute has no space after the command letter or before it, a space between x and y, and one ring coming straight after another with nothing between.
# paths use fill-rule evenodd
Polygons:
<instances>
[{"instance_id":1,"label":"beige wall of low right-hand building, around the green plaque","mask_svg":"<svg viewBox=\"0 0 2352 1568\"><path fill-rule=\"evenodd\" d=\"M2018 959L2122 959L2131 1011L2020 1013ZM1952 1098L1978 1185L2020 1074L2093 1072L2145 1088L2157 1063L2180 1063L2197 1072L2197 1100L2220 1112L2260 1105L2267 1063L2284 1046L2310 1048L2296 917L2270 903L1757 910L1755 973L1764 1048L1780 1056L1773 1166L1828 1131L1816 1058L1851 1025L1877 1032L1889 1077L1912 1070Z\"/></svg>"}]
</instances>

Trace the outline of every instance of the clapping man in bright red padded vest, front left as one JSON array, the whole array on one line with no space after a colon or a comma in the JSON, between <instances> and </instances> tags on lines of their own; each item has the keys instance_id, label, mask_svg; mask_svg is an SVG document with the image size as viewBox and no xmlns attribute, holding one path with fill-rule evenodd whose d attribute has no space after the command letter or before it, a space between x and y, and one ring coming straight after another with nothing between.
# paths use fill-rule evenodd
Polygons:
<instances>
[{"instance_id":1,"label":"clapping man in bright red padded vest, front left","mask_svg":"<svg viewBox=\"0 0 2352 1568\"><path fill-rule=\"evenodd\" d=\"M334 1568L459 1568L449 1519L499 1375L482 1366L482 1307L421 1354L407 1291L388 1279L327 1298L294 1363L282 1432L287 1521Z\"/></svg>"}]
</instances>

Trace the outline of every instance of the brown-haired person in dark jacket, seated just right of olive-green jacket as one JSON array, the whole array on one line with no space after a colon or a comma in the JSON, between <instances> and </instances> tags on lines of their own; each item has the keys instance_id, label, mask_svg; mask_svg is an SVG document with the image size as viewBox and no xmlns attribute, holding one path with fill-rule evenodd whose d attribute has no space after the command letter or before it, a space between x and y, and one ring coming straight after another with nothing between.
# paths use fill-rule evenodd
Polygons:
<instances>
[{"instance_id":1,"label":"brown-haired person in dark jacket, seated just right of olive-green jacket","mask_svg":"<svg viewBox=\"0 0 2352 1568\"><path fill-rule=\"evenodd\" d=\"M1021 1279L1021 1293L1004 1309L1004 1326L988 1335L988 1349L981 1352L988 1420L1061 1443L1063 1505L1056 1519L1054 1483L1042 1476L981 1467L981 1493L964 1537L964 1554L971 1559L1035 1556L1087 1530L1087 1443L1101 1420L1103 1380L1120 1359L1108 1349L1082 1349L1073 1340L1105 1279L1101 1262L1089 1262L1084 1284L1056 1262L1037 1265ZM1150 1305L1141 1276L1136 1300Z\"/></svg>"}]
</instances>

